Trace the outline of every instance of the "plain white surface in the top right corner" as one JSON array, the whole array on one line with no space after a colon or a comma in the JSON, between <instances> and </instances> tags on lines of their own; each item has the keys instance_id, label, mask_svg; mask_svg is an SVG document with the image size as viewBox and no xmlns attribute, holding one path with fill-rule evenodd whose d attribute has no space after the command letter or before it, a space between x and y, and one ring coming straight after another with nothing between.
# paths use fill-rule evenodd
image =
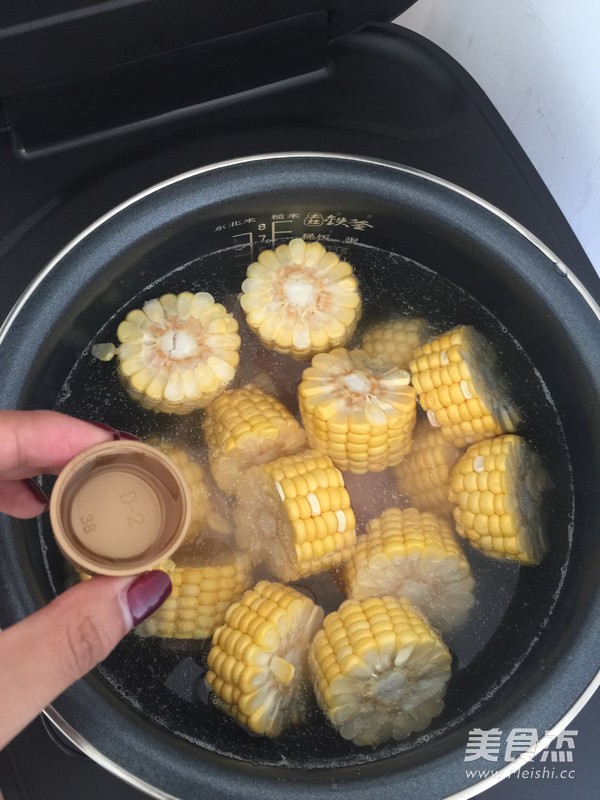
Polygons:
<instances>
[{"instance_id":1,"label":"plain white surface in the top right corner","mask_svg":"<svg viewBox=\"0 0 600 800\"><path fill-rule=\"evenodd\" d=\"M600 0L418 0L396 21L479 83L600 273Z\"/></svg>"}]
</instances>

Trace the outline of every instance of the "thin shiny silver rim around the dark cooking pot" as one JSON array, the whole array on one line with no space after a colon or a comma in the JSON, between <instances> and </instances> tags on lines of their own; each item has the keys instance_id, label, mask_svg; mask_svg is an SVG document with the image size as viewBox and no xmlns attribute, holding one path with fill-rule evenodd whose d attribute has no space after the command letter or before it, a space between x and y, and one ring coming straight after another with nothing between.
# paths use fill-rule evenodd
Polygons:
<instances>
[{"instance_id":1,"label":"thin shiny silver rim around the dark cooking pot","mask_svg":"<svg viewBox=\"0 0 600 800\"><path fill-rule=\"evenodd\" d=\"M252 156L238 157L234 159L215 162L209 165L204 165L202 167L197 167L195 169L188 170L186 172L172 176L164 181L156 183L146 188L145 190L133 195L132 197L120 203L119 205L115 206L110 211L103 214L95 222L93 222L91 225L85 228L80 234L78 234L74 239L72 239L65 247L63 247L59 251L59 253L38 273L38 275L34 278L34 280L29 284L29 286L23 292L19 300L15 303L14 307L10 311L7 318L4 320L2 325L0 325L0 346L2 345L12 324L17 319L18 315L20 314L21 310L23 309L23 307L25 306L31 295L36 291L36 289L49 275L49 273L64 259L64 257L69 252L71 252L75 247L77 247L77 245L79 245L88 236L90 236L96 229L100 228L102 225L104 225L110 219L115 217L117 214L120 214L130 206L133 206L135 203L143 200L144 198L156 192L161 191L162 189L173 186L178 182L187 180L192 177L197 177L203 174L209 174L212 172L216 172L217 170L227 169L229 167L243 166L255 162L264 162L264 161L275 162L275 161L285 161L288 159L307 159L307 160L324 159L324 160L342 161L342 162L348 161L352 163L358 162L366 165L373 165L375 167L384 167L386 169L394 170L399 173L404 173L412 175L414 177L421 178L432 184L437 184L438 186L441 186L453 192L454 194L463 197L464 199L472 202L475 205L480 206L487 212L499 218L501 221L509 225L517 233L519 233L521 236L527 239L533 246L535 246L541 252L541 254L545 256L545 258L550 262L550 264L554 267L554 269L561 276L566 277L569 280L573 288L579 293L582 299L590 307L596 319L600 321L600 305L596 302L590 291L572 272L572 270L570 270L569 267L567 267L567 265L537 236L535 236L527 228L521 225L521 223L517 222L509 214L502 211L500 208L493 205L489 201L474 194L473 192L470 192L467 189L458 186L457 184L454 184L448 180L440 178L431 173L418 170L406 165L386 161L383 159L369 158L369 157L356 156L344 153L326 153L320 151L292 151L292 152L273 152L273 153L264 153ZM571 722L571 720L585 706L585 704L592 697L592 695L595 693L595 691L598 689L599 686L600 686L600 670L598 670L598 672L585 687L585 689L583 690L579 698L576 700L576 702L568 709L568 711L560 718L560 720L558 720L550 730L546 731L545 735L541 737L538 740L538 742L534 746L532 746L527 752L519 755L515 759L515 761L506 764L502 768L494 770L493 776L484 778L478 781L473 786L460 789L458 792L455 792L454 794L447 795L446 800L463 800L463 799L466 800L467 798L474 797L480 794L481 792L485 791L486 789L490 788L492 785L498 783L500 780L505 779L510 774L516 772L524 765L528 764L532 757L534 757L540 751L545 749L553 741L553 739L555 739L556 736L558 736L558 734L565 729L565 727ZM122 766L112 761L107 756L105 756L94 745L90 744L90 742L87 739L85 739L81 734L79 734L52 705L50 705L44 711L44 714L48 717L48 719L51 720L53 724L55 724L59 728L61 733L65 735L66 738L69 739L76 747L78 747L83 753L90 756L100 766L102 766L107 771L114 774L119 779L134 786L138 790L146 794L149 794L152 797L159 798L159 800L178 800L176 796L166 793L162 789L159 789L158 787L155 787L152 784L147 783L146 781L128 772L125 768L123 768Z\"/></svg>"}]
</instances>

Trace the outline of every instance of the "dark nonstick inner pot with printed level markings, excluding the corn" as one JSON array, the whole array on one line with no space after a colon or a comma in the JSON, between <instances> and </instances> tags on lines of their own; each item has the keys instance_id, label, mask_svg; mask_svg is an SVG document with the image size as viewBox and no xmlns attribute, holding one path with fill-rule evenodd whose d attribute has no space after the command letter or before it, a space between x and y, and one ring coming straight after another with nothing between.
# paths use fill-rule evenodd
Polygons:
<instances>
[{"instance_id":1,"label":"dark nonstick inner pot with printed level markings, excluding the corn","mask_svg":"<svg viewBox=\"0 0 600 800\"><path fill-rule=\"evenodd\" d=\"M142 436L175 424L191 430L189 420L128 400L90 343L115 341L123 314L165 291L211 291L233 309L252 258L274 235L278 244L299 233L325 237L354 265L366 321L417 313L439 330L474 324L493 341L521 407L519 432L552 474L549 554L518 569L468 550L478 604L447 637L455 668L446 708L405 742L355 747L316 709L276 740L249 736L206 703L201 643L133 635L53 714L111 768L170 796L195 797L201 787L223 797L320 797L342 787L357 797L397 797L400 787L448 796L473 784L464 764L470 729L541 736L598 668L598 318L535 241L485 204L392 165L282 156L200 170L125 204L51 265L3 329L0 405L57 407ZM277 373L277 357L269 368ZM46 520L1 524L7 625L62 590L69 569ZM319 596L318 580L306 587ZM337 599L324 602L333 608Z\"/></svg>"}]
</instances>

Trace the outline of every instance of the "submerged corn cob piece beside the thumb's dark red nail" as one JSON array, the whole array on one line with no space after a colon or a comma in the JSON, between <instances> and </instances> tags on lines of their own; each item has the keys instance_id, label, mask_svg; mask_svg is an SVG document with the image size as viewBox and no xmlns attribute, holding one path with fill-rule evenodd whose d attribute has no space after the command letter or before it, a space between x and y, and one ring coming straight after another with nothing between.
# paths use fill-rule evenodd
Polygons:
<instances>
[{"instance_id":1,"label":"submerged corn cob piece beside the thumb's dark red nail","mask_svg":"<svg viewBox=\"0 0 600 800\"><path fill-rule=\"evenodd\" d=\"M187 556L160 565L173 590L160 608L136 628L140 636L165 639L207 639L225 619L229 606L252 585L247 554L222 542L204 539Z\"/></svg>"}]
</instances>

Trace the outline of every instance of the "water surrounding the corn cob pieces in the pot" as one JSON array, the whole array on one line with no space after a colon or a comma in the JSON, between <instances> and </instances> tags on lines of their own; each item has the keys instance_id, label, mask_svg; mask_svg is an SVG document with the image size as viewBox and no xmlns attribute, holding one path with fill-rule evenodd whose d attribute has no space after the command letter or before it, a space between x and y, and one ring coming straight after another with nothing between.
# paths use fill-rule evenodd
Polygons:
<instances>
[{"instance_id":1,"label":"water surrounding the corn cob pieces in the pot","mask_svg":"<svg viewBox=\"0 0 600 800\"><path fill-rule=\"evenodd\" d=\"M335 242L327 242L336 250ZM561 426L543 381L518 342L500 322L470 295L441 278L427 267L402 256L365 245L340 251L354 267L363 299L363 315L354 338L346 346L359 346L365 329L377 321L396 316L418 316L427 321L431 335L460 324L473 325L494 346L497 355L497 380L511 395L521 416L518 433L541 455L555 487L570 485L570 470ZM203 412L188 416L155 414L145 411L129 398L117 377L116 359L103 363L92 354L94 344L117 343L116 329L126 313L147 300L165 293L210 292L238 320L242 345L240 366L233 386L257 381L275 393L299 419L296 391L302 371L309 362L295 361L266 350L248 329L241 312L238 294L245 277L246 262L238 248L213 253L192 263L178 266L132 297L97 332L65 382L56 409L83 419L99 420L130 431L142 439L160 437L180 444L205 468L212 481L207 452L202 438ZM419 414L422 412L419 410ZM344 474L357 531L386 508L408 505L397 488L391 469L364 476ZM493 698L508 677L507 670L494 671L493 653L502 651L511 640L511 609L523 608L537 593L537 584L547 585L564 572L568 557L570 498L565 490L545 495L542 515L547 521L550 552L539 567L519 567L511 562L485 557L464 543L475 579L475 605L467 621L444 635L453 656L453 674L446 695L444 712L426 731L403 742L388 742L379 748L361 748L343 740L329 725L314 700L306 703L305 722L284 732L275 740L257 737L216 709L204 686L206 653L210 641L141 638L130 634L100 667L123 701L170 730L198 745L234 758L263 764L327 767L380 759L422 744L452 729L465 714L474 712L481 702ZM232 500L212 485L211 496L217 510L231 518ZM210 534L219 536L219 534ZM49 529L43 536L53 547ZM232 537L220 534L225 546L234 547ZM176 560L176 559L175 559ZM52 580L61 588L68 580L67 567L53 567ZM256 579L268 577L258 569ZM528 585L532 583L531 591ZM335 610L344 599L328 573L294 584L319 603L325 613ZM534 591L535 590L535 591ZM443 603L443 598L440 599ZM551 608L551 600L546 601ZM526 646L515 654L515 665L526 654ZM489 655L491 654L491 655ZM482 665L485 665L482 667ZM487 675L482 682L481 672ZM482 699L483 698L483 699Z\"/></svg>"}]
</instances>

